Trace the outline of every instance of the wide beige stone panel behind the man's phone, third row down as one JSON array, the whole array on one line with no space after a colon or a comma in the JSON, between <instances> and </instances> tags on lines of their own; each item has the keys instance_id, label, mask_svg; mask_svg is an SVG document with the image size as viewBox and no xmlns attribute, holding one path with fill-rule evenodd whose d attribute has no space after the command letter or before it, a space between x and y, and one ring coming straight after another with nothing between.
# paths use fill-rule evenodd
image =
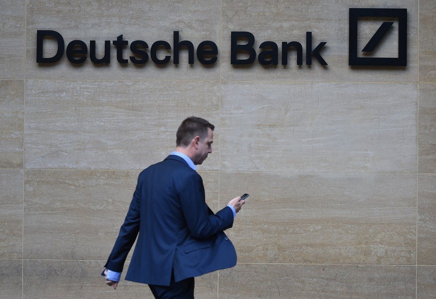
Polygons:
<instances>
[{"instance_id":1,"label":"wide beige stone panel behind the man's phone, third row down","mask_svg":"<svg viewBox=\"0 0 436 299\"><path fill-rule=\"evenodd\" d=\"M250 194L240 263L416 264L416 175L223 173L220 190Z\"/></svg>"}]
</instances>

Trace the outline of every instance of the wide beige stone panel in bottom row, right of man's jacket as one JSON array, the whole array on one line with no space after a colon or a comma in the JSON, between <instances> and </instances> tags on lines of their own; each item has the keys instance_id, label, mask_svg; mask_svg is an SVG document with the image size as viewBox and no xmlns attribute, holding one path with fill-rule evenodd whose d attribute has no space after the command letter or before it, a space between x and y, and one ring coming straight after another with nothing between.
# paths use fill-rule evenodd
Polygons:
<instances>
[{"instance_id":1,"label":"wide beige stone panel in bottom row, right of man's jacket","mask_svg":"<svg viewBox=\"0 0 436 299\"><path fill-rule=\"evenodd\" d=\"M238 264L220 271L219 298L415 298L415 267Z\"/></svg>"}]
</instances>

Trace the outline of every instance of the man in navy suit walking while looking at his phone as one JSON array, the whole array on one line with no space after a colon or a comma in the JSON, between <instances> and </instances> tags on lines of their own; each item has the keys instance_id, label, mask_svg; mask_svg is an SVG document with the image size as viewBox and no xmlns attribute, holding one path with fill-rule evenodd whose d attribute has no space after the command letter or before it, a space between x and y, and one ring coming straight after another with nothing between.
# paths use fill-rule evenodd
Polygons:
<instances>
[{"instance_id":1,"label":"man in navy suit walking while looking at his phone","mask_svg":"<svg viewBox=\"0 0 436 299\"><path fill-rule=\"evenodd\" d=\"M155 298L194 298L194 277L236 265L224 230L233 226L240 196L214 214L195 171L212 152L214 126L189 117L179 126L176 150L143 170L102 275L116 289L138 237L126 280L148 284ZM139 234L139 235L138 235Z\"/></svg>"}]
</instances>

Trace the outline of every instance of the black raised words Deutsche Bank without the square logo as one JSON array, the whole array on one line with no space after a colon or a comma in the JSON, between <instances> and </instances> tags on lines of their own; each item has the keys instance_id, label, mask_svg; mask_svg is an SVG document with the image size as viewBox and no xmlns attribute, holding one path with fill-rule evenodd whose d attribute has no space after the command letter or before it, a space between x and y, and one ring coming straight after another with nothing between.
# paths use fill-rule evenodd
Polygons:
<instances>
[{"instance_id":1,"label":"black raised words Deutsche Bank without the square logo","mask_svg":"<svg viewBox=\"0 0 436 299\"><path fill-rule=\"evenodd\" d=\"M56 42L56 54L51 57L44 57L44 39L54 39ZM241 43L241 40L246 43ZM96 41L89 41L89 52L87 44L82 40L70 41L65 50L65 41L62 35L53 30L37 30L36 32L36 62L37 63L55 63L59 61L65 52L66 58L75 64L83 63L89 55L92 63L102 64L110 63L110 46L111 41L104 41L104 54L102 57L97 58ZM256 57L262 65L277 65L279 60L279 46L273 41L262 42L259 46L260 52L257 55L256 50L253 48L255 37L252 33L246 31L232 31L231 32L231 64L252 64L255 62ZM322 65L327 65L327 62L320 54L321 49L327 42L321 42L312 50L312 32L306 32L306 64L312 64L312 56L314 56ZM194 63L194 44L189 40L179 41L179 31L173 31L173 45L165 40L155 41L150 48L149 53L148 44L143 40L135 40L130 43L130 51L133 56L129 59L124 58L124 48L129 45L128 40L123 39L123 35L119 35L116 40L112 40L112 45L116 48L116 59L119 63L128 63L129 60L134 64L144 64L148 61L149 57L156 64L166 64L171 60L170 55L164 54L164 57L158 57L158 50L164 49L168 53L173 50L173 63L179 64L179 53L182 47L188 50L188 63ZM295 50L297 52L297 65L303 64L303 46L298 41L282 42L281 64L288 64L288 52ZM210 40L202 41L196 48L196 56L202 64L213 64L217 61L218 47ZM241 55L248 58L238 58Z\"/></svg>"}]
</instances>

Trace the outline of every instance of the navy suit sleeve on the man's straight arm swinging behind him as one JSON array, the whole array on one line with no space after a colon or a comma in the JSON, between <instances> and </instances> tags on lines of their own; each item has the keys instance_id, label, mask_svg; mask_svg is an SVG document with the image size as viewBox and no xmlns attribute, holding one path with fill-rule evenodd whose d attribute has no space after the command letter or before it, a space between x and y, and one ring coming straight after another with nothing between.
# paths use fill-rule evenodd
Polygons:
<instances>
[{"instance_id":1,"label":"navy suit sleeve on the man's straight arm swinging behind him","mask_svg":"<svg viewBox=\"0 0 436 299\"><path fill-rule=\"evenodd\" d=\"M124 223L119 230L118 238L115 241L115 245L107 259L106 265L104 265L105 268L113 272L122 272L127 255L135 243L139 232L140 185L140 180L138 179L135 192L133 193L133 199L124 219Z\"/></svg>"}]
</instances>

